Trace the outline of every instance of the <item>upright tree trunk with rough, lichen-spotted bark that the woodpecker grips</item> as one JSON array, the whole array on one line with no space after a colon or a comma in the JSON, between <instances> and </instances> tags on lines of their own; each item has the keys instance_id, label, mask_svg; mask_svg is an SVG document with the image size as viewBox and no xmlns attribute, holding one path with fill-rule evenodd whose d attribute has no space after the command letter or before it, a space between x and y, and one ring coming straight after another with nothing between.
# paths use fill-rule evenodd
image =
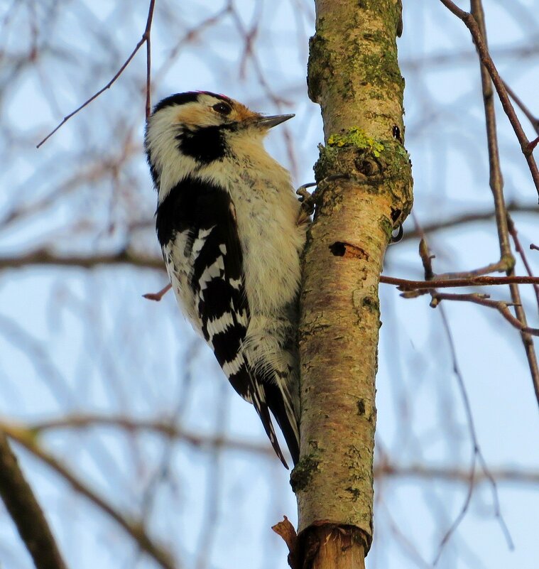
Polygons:
<instances>
[{"instance_id":1,"label":"upright tree trunk with rough, lichen-spotted bark that the woodpecker grips","mask_svg":"<svg viewBox=\"0 0 539 569\"><path fill-rule=\"evenodd\" d=\"M322 107L325 146L305 252L301 457L291 484L303 566L357 568L373 531L379 274L393 227L412 205L401 9L398 0L315 4L307 83ZM322 182L339 174L349 178Z\"/></svg>"}]
</instances>

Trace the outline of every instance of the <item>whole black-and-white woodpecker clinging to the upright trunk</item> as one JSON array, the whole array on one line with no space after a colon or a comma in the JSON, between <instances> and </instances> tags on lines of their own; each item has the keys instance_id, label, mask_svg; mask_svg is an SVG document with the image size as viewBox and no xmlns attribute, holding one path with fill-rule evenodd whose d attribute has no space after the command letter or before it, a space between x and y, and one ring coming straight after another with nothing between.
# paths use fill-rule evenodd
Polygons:
<instances>
[{"instance_id":1,"label":"whole black-and-white woodpecker clinging to the upright trunk","mask_svg":"<svg viewBox=\"0 0 539 569\"><path fill-rule=\"evenodd\" d=\"M296 464L308 218L263 139L293 116L263 116L222 94L177 93L156 104L144 139L158 193L157 237L176 299L234 389L256 408L287 468L269 411Z\"/></svg>"}]
</instances>

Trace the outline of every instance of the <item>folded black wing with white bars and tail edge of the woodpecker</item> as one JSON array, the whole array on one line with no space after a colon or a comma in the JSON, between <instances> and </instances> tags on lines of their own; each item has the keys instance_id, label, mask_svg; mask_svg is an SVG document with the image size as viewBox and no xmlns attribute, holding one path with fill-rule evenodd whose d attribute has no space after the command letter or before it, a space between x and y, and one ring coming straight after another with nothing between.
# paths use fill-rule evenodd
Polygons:
<instances>
[{"instance_id":1,"label":"folded black wing with white bars and tail edge of the woodpecker","mask_svg":"<svg viewBox=\"0 0 539 569\"><path fill-rule=\"evenodd\" d=\"M156 228L180 305L212 347L234 389L253 403L273 449L288 467L268 410L282 406L273 401L280 394L254 377L242 354L249 304L229 193L209 182L185 178L158 206Z\"/></svg>"}]
</instances>

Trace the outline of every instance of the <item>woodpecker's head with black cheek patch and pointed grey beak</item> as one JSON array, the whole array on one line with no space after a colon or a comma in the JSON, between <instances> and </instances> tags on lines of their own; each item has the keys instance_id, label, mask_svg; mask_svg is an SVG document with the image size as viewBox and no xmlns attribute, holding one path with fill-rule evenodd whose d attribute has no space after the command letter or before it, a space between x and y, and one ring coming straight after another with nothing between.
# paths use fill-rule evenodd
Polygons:
<instances>
[{"instance_id":1,"label":"woodpecker's head with black cheek patch and pointed grey beak","mask_svg":"<svg viewBox=\"0 0 539 569\"><path fill-rule=\"evenodd\" d=\"M234 155L235 146L246 142L261 146L268 129L293 116L263 116L234 99L209 92L166 97L154 107L144 139L156 188L163 170L183 168L186 175Z\"/></svg>"}]
</instances>

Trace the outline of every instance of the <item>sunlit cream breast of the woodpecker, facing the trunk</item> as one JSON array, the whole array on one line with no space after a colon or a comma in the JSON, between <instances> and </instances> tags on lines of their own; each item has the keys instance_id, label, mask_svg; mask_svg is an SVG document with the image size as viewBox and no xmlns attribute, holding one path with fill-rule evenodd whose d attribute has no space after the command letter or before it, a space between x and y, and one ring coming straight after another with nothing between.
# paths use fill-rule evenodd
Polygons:
<instances>
[{"instance_id":1,"label":"sunlit cream breast of the woodpecker, facing the trunk","mask_svg":"<svg viewBox=\"0 0 539 569\"><path fill-rule=\"evenodd\" d=\"M242 137L233 158L200 173L227 188L234 202L251 314L275 314L297 294L305 244L288 171L266 153L261 141Z\"/></svg>"}]
</instances>

